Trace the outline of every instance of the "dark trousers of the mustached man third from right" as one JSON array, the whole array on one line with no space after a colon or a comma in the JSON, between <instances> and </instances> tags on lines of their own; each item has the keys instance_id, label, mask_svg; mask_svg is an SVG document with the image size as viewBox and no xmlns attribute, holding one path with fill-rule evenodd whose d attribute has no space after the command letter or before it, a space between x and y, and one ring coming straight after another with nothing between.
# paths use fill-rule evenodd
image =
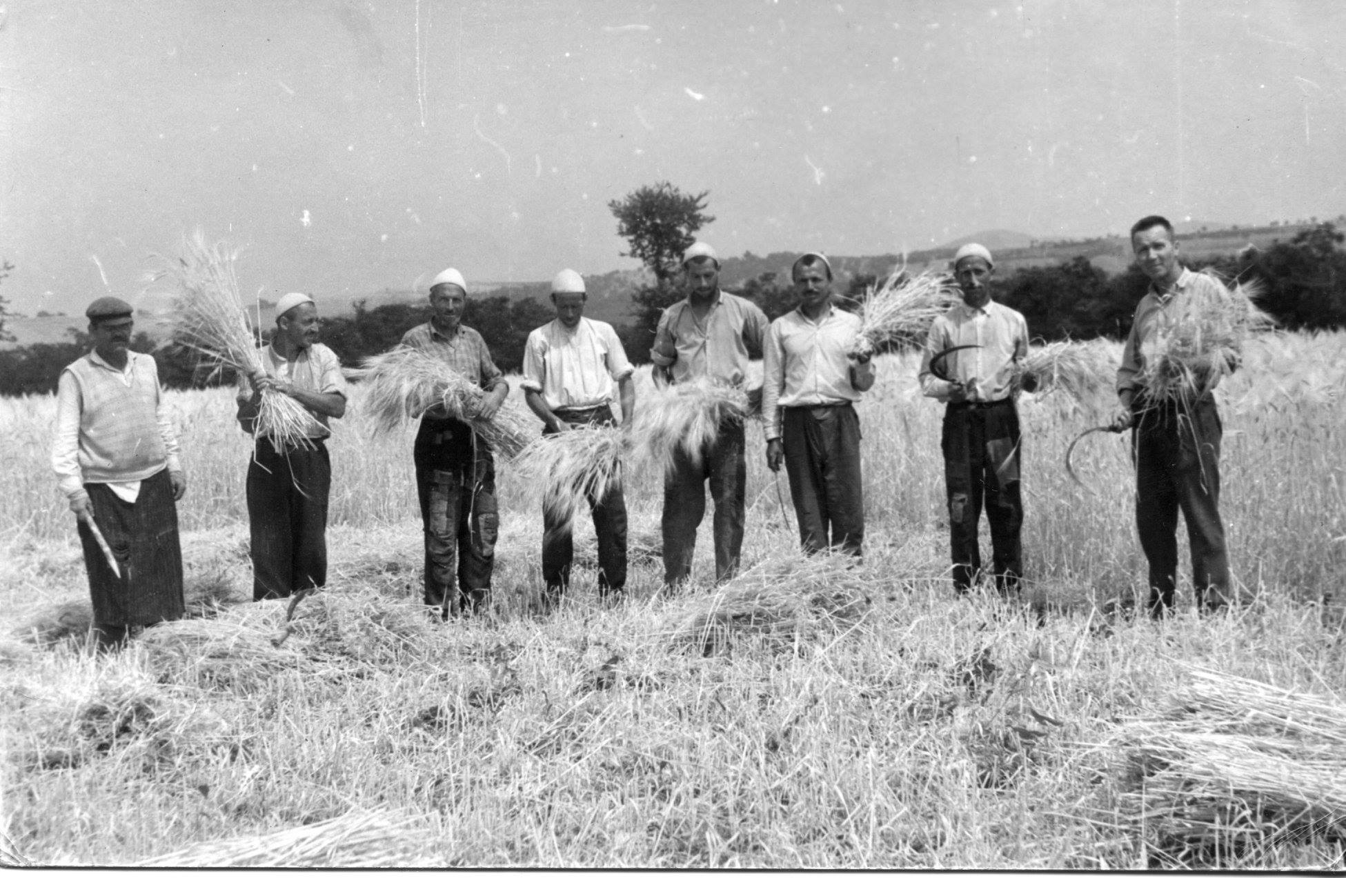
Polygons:
<instances>
[{"instance_id":1,"label":"dark trousers of the mustached man third from right","mask_svg":"<svg viewBox=\"0 0 1346 878\"><path fill-rule=\"evenodd\" d=\"M860 417L855 407L786 408L781 440L804 551L832 547L859 555L864 540L864 493Z\"/></svg>"}]
</instances>

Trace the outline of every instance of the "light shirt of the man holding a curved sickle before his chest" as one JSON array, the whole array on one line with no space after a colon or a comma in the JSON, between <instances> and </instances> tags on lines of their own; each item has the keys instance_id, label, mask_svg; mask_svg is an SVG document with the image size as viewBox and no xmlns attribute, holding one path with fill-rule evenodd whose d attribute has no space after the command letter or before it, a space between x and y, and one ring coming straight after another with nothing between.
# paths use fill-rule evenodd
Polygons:
<instances>
[{"instance_id":1,"label":"light shirt of the man holding a curved sickle before his chest","mask_svg":"<svg viewBox=\"0 0 1346 878\"><path fill-rule=\"evenodd\" d=\"M930 360L942 350L958 350L940 361L948 381L930 372ZM960 302L930 325L926 349L921 357L921 391L941 401L949 400L954 382L972 382L970 403L996 403L1014 389L1015 362L1028 356L1028 322L1023 315L999 302L983 308Z\"/></svg>"}]
</instances>

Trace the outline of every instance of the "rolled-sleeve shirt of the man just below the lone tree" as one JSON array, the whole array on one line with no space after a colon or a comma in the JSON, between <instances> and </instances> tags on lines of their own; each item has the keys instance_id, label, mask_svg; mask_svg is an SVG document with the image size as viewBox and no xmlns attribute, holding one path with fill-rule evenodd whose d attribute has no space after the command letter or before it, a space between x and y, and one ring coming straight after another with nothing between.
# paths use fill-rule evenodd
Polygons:
<instances>
[{"instance_id":1,"label":"rolled-sleeve shirt of the man just below the lone tree","mask_svg":"<svg viewBox=\"0 0 1346 878\"><path fill-rule=\"evenodd\" d=\"M739 385L747 377L750 350L760 350L767 319L762 308L723 290L704 319L689 299L674 302L660 316L650 360L673 372L673 382L711 378Z\"/></svg>"}]
</instances>

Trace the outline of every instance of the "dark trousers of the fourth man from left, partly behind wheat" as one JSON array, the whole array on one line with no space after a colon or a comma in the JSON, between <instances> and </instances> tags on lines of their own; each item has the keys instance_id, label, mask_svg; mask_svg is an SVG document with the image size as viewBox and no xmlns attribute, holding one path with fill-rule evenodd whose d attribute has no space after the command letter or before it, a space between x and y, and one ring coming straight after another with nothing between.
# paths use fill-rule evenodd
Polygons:
<instances>
[{"instance_id":1,"label":"dark trousers of the fourth man from left, partly behind wheat","mask_svg":"<svg viewBox=\"0 0 1346 878\"><path fill-rule=\"evenodd\" d=\"M612 409L608 407L583 411L555 412L567 424L612 424ZM542 434L553 434L544 430ZM603 500L588 497L590 512L594 516L594 533L598 536L598 593L622 593L626 588L626 497L622 482L616 479ZM548 594L561 595L571 582L571 563L575 559L575 541L571 522L563 518L542 516L542 580Z\"/></svg>"}]
</instances>

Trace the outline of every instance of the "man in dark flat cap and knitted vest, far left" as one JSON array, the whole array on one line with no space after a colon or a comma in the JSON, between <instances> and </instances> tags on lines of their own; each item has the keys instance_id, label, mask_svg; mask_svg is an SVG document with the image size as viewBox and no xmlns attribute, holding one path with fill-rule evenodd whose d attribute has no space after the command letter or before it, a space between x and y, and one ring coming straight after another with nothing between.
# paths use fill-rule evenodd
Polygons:
<instances>
[{"instance_id":1,"label":"man in dark flat cap and knitted vest, far left","mask_svg":"<svg viewBox=\"0 0 1346 878\"><path fill-rule=\"evenodd\" d=\"M51 469L78 521L93 636L114 649L132 626L182 618L187 479L155 360L131 350L131 306L105 296L85 315L93 350L61 373Z\"/></svg>"}]
</instances>

